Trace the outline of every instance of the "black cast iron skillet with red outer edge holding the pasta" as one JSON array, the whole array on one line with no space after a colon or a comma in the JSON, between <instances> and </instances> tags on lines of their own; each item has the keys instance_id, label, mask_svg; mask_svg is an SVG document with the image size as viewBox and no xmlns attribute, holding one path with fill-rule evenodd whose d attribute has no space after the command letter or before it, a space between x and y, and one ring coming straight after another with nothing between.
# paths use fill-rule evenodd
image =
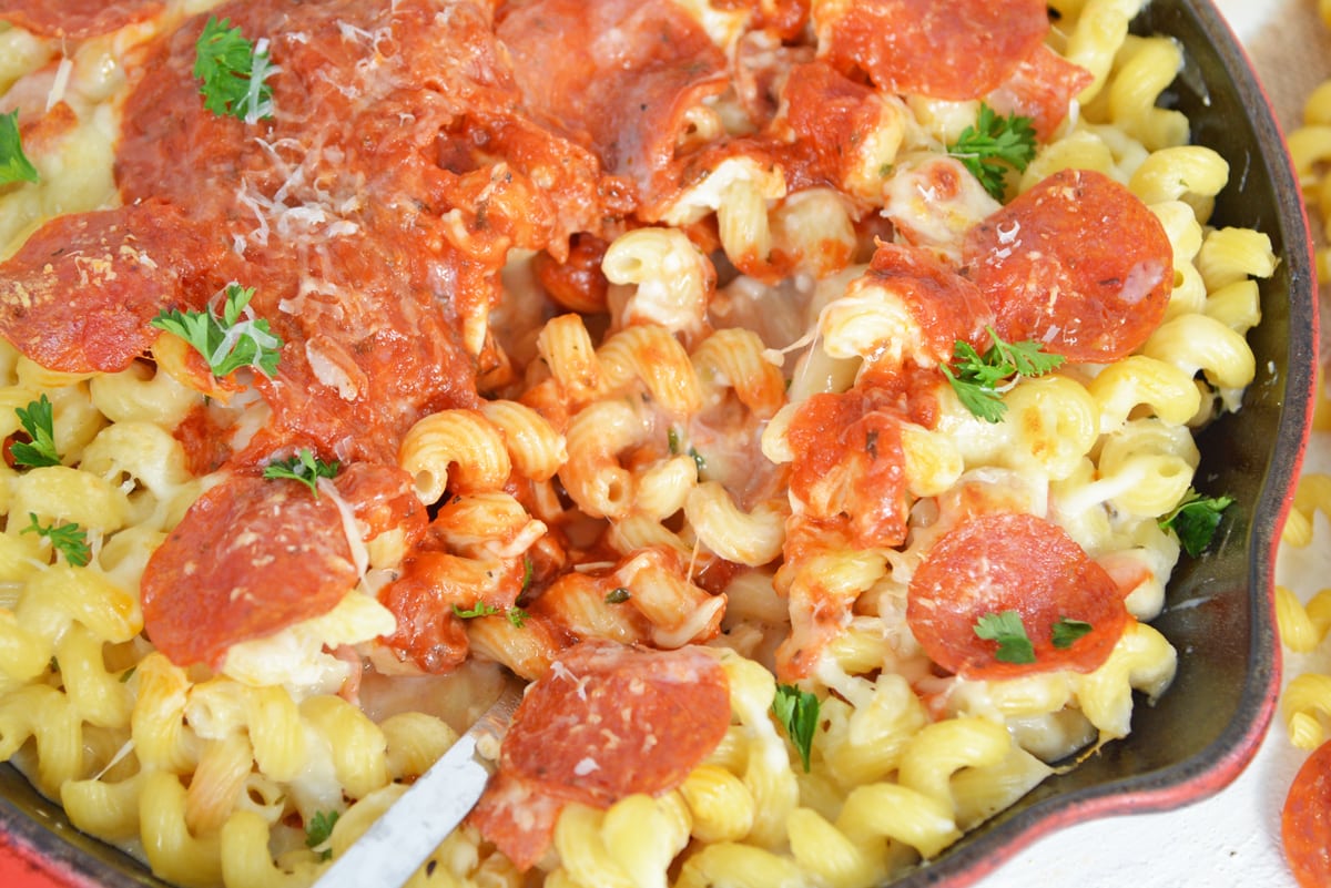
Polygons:
<instances>
[{"instance_id":1,"label":"black cast iron skillet with red outer edge holding the pasta","mask_svg":"<svg viewBox=\"0 0 1331 888\"><path fill-rule=\"evenodd\" d=\"M1271 606L1275 549L1311 412L1316 299L1307 223L1284 142L1233 33L1209 0L1154 0L1133 25L1171 35L1186 69L1165 101L1193 121L1193 141L1219 150L1230 185L1213 222L1255 227L1280 257L1262 283L1262 323L1248 342L1258 376L1243 409L1201 436L1198 488L1227 493L1213 550L1187 561L1154 623L1179 649L1178 678L1133 732L1069 774L1051 778L892 888L961 888L1018 849L1082 820L1178 807L1229 784L1248 763L1275 709L1280 649ZM1186 605L1186 606L1179 606ZM91 839L64 812L0 766L0 844L72 885L165 884Z\"/></svg>"}]
</instances>

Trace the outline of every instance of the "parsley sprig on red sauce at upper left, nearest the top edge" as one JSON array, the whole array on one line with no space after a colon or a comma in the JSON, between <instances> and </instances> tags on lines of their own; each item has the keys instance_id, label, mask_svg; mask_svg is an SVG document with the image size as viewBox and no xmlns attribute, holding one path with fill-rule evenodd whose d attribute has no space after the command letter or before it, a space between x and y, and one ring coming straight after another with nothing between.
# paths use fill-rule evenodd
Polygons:
<instances>
[{"instance_id":1,"label":"parsley sprig on red sauce at upper left, nearest the top edge","mask_svg":"<svg viewBox=\"0 0 1331 888\"><path fill-rule=\"evenodd\" d=\"M209 16L194 43L194 77L204 108L218 117L237 117L246 124L273 116L273 88L268 78L277 73L269 61L266 41L254 43L230 27L230 19Z\"/></svg>"}]
</instances>

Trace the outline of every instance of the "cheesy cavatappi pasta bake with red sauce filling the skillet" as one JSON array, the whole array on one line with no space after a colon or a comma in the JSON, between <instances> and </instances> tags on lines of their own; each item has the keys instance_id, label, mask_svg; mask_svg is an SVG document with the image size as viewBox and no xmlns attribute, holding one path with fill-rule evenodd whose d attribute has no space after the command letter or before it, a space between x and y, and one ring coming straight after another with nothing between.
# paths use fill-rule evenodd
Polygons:
<instances>
[{"instance_id":1,"label":"cheesy cavatappi pasta bake with red sauce filling the skillet","mask_svg":"<svg viewBox=\"0 0 1331 888\"><path fill-rule=\"evenodd\" d=\"M1175 667L1161 518L1258 374L1278 258L1210 223L1229 166L1161 106L1183 48L1129 35L1142 0L857 55L920 5L0 3L37 174L0 185L0 759L169 883L309 885L504 682L588 639L701 651L728 703L679 779L560 799L530 859L491 808L411 884L851 888L1127 735ZM270 117L202 109L209 16L270 53ZM958 146L990 113L1034 152L986 187ZM1046 274L1046 229L1130 258L1049 271L1036 326L1004 275ZM149 323L230 283L276 371ZM990 421L948 376L994 330L1066 360L1002 374ZM55 465L12 448L43 399ZM301 455L338 465L262 477ZM1098 614L1085 645L956 637L949 596L994 585L966 533L1070 553L1086 584L1040 594Z\"/></svg>"}]
</instances>

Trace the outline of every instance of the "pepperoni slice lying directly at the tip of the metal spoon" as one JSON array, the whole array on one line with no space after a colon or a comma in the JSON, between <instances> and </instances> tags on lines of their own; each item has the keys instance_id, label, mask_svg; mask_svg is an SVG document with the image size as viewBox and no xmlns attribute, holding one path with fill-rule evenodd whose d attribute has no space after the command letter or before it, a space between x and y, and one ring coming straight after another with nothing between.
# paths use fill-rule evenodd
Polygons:
<instances>
[{"instance_id":1,"label":"pepperoni slice lying directly at the tip of the metal spoon","mask_svg":"<svg viewBox=\"0 0 1331 888\"><path fill-rule=\"evenodd\" d=\"M582 642L527 689L496 779L471 820L527 869L544 853L564 803L607 808L636 792L672 790L729 722L729 689L715 657Z\"/></svg>"}]
</instances>

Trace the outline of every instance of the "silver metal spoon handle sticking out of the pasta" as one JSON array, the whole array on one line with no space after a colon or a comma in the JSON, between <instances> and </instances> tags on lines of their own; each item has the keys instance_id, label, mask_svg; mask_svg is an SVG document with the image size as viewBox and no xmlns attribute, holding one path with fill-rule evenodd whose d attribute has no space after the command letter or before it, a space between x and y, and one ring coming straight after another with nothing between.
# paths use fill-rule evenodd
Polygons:
<instances>
[{"instance_id":1,"label":"silver metal spoon handle sticking out of the pasta","mask_svg":"<svg viewBox=\"0 0 1331 888\"><path fill-rule=\"evenodd\" d=\"M520 701L520 690L506 689L484 715L323 871L318 888L406 883L480 799L492 764L476 755L476 744L502 739Z\"/></svg>"}]
</instances>

